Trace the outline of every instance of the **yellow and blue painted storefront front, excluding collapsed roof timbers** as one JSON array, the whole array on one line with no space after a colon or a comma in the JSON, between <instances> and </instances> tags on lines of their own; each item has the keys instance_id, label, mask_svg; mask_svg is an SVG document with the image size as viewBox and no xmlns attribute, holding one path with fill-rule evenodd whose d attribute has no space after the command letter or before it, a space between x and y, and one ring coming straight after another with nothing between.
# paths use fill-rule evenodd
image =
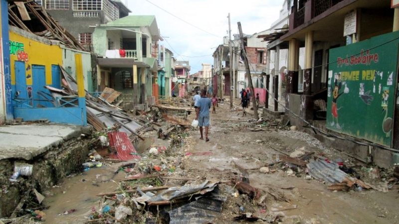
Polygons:
<instances>
[{"instance_id":1,"label":"yellow and blue painted storefront front, excluding collapsed roof timbers","mask_svg":"<svg viewBox=\"0 0 399 224\"><path fill-rule=\"evenodd\" d=\"M86 109L81 104L84 90L79 93L83 99L70 98L70 102L75 102L66 107L65 104L57 104L63 102L62 99L54 99L46 88L49 86L61 89L60 65L63 64L63 53L59 42L10 26L9 45L14 117L86 125ZM83 83L82 56L73 56L71 60L76 64L77 81Z\"/></svg>"}]
</instances>

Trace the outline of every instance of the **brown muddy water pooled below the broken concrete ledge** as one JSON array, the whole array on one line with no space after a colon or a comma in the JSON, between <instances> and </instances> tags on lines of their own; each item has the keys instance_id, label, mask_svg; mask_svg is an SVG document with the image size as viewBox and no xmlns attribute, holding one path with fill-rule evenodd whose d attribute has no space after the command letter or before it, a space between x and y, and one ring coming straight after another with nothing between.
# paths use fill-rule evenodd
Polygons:
<instances>
[{"instance_id":1,"label":"brown muddy water pooled below the broken concrete ledge","mask_svg":"<svg viewBox=\"0 0 399 224\"><path fill-rule=\"evenodd\" d=\"M85 223L93 206L98 207L99 197L96 195L112 192L117 189L117 184L111 179L123 179L123 172L114 176L119 164L92 168L82 175L67 178L59 187L51 189L51 195L44 200L50 206L46 213L44 224L81 224ZM74 213L58 215L65 211L75 209Z\"/></svg>"}]
</instances>

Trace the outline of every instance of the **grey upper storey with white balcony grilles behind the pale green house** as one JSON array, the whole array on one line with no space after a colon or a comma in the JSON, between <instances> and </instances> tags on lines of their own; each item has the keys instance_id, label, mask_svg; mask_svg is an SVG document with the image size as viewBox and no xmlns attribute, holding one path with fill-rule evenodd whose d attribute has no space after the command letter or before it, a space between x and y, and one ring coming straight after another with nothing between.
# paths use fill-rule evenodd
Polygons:
<instances>
[{"instance_id":1,"label":"grey upper storey with white balcony grilles behind the pale green house","mask_svg":"<svg viewBox=\"0 0 399 224\"><path fill-rule=\"evenodd\" d=\"M94 26L129 15L121 0L35 0L80 43L92 47Z\"/></svg>"}]
</instances>

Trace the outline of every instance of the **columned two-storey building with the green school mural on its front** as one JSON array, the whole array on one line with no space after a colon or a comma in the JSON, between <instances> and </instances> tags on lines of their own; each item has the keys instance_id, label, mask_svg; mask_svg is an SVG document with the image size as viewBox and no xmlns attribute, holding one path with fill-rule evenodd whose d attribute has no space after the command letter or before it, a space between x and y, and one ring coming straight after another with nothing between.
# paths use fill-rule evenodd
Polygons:
<instances>
[{"instance_id":1,"label":"columned two-storey building with the green school mural on its front","mask_svg":"<svg viewBox=\"0 0 399 224\"><path fill-rule=\"evenodd\" d=\"M288 47L286 105L300 117L288 113L291 124L306 120L340 135L324 140L382 167L399 157L399 9L391 7L390 0L294 0L288 32L273 41Z\"/></svg>"}]
</instances>

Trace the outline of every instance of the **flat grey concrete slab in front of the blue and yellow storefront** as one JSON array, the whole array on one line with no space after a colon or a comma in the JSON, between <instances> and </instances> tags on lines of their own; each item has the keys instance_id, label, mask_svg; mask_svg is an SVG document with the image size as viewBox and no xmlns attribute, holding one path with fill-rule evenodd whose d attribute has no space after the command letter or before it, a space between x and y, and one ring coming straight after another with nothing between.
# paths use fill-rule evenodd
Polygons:
<instances>
[{"instance_id":1,"label":"flat grey concrete slab in front of the blue and yellow storefront","mask_svg":"<svg viewBox=\"0 0 399 224\"><path fill-rule=\"evenodd\" d=\"M32 158L82 133L71 125L7 125L0 126L0 160Z\"/></svg>"}]
</instances>

